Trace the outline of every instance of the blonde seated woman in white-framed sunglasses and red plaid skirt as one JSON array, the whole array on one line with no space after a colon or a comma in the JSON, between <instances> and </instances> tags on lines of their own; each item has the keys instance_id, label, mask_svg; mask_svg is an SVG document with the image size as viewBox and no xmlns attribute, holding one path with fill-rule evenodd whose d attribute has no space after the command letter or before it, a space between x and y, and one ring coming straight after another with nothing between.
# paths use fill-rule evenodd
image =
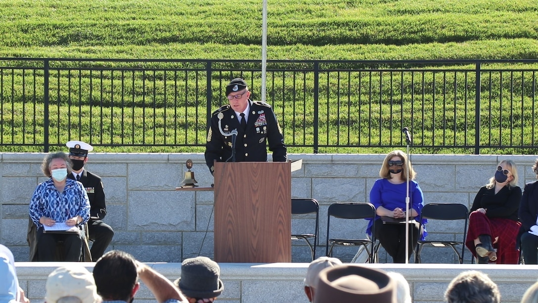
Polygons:
<instances>
[{"instance_id":1,"label":"blonde seated woman in white-framed sunglasses and red plaid skirt","mask_svg":"<svg viewBox=\"0 0 538 303\"><path fill-rule=\"evenodd\" d=\"M479 264L518 263L519 250L515 243L521 226L518 222L521 188L516 184L515 163L501 161L490 183L480 188L473 201L465 245ZM497 252L493 244L497 245Z\"/></svg>"}]
</instances>

